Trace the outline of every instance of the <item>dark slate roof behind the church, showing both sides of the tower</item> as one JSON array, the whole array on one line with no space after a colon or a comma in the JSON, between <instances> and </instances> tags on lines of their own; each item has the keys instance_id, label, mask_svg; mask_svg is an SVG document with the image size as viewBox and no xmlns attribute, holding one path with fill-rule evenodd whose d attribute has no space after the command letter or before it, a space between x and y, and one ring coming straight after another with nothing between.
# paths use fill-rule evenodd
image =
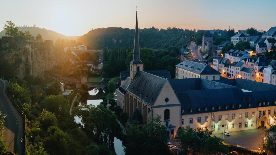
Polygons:
<instances>
[{"instance_id":1,"label":"dark slate roof behind the church, showing both sides of the tower","mask_svg":"<svg viewBox=\"0 0 276 155\"><path fill-rule=\"evenodd\" d=\"M150 70L150 71L145 71L147 73L159 76L161 78L167 78L167 79L171 79L170 76L170 71L166 71L166 70ZM121 71L121 80L125 80L127 77L130 76L130 71Z\"/></svg>"}]
</instances>

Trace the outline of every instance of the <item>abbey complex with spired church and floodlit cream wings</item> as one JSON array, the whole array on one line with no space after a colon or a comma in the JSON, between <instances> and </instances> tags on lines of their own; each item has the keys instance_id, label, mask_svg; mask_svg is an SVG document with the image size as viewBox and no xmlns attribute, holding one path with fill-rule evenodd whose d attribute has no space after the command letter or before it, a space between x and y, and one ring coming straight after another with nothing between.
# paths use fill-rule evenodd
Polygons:
<instances>
[{"instance_id":1,"label":"abbey complex with spired church and floodlit cream wings","mask_svg":"<svg viewBox=\"0 0 276 155\"><path fill-rule=\"evenodd\" d=\"M181 75L170 79L143 71L143 65L136 13L129 77L124 78L116 90L117 105L128 114L129 123L143 125L160 115L168 138L174 138L179 127L188 125L216 133L223 129L268 127L275 123L272 119L276 113L275 85L239 78L217 80L216 72L212 72L214 75L208 80L206 75L197 75L199 73L196 77L183 78Z\"/></svg>"}]
</instances>

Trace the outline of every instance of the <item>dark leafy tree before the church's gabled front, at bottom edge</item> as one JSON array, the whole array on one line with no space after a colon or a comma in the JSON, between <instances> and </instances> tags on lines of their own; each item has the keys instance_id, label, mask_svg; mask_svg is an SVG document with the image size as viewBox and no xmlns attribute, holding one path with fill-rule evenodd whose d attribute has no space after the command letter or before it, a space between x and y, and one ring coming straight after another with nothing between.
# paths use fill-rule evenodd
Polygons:
<instances>
[{"instance_id":1,"label":"dark leafy tree before the church's gabled front, at bottom edge","mask_svg":"<svg viewBox=\"0 0 276 155\"><path fill-rule=\"evenodd\" d=\"M127 125L125 153L128 154L170 154L166 146L166 127L160 116L153 118L146 125Z\"/></svg>"}]
</instances>

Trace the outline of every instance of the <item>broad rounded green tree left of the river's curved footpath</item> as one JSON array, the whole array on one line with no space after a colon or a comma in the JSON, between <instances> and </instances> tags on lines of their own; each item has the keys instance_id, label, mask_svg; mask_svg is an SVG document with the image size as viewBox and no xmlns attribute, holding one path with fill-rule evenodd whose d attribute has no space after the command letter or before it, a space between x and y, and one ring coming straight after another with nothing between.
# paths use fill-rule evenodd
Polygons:
<instances>
[{"instance_id":1,"label":"broad rounded green tree left of the river's curved footpath","mask_svg":"<svg viewBox=\"0 0 276 155\"><path fill-rule=\"evenodd\" d=\"M48 96L40 103L41 108L54 113L57 119L66 116L66 104L67 100L65 100L61 95Z\"/></svg>"}]
</instances>

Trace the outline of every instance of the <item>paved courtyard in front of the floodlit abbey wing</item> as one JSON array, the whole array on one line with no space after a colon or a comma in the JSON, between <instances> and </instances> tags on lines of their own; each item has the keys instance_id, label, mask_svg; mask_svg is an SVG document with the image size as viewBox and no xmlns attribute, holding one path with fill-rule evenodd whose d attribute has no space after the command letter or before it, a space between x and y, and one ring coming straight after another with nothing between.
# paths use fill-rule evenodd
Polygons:
<instances>
[{"instance_id":1,"label":"paved courtyard in front of the floodlit abbey wing","mask_svg":"<svg viewBox=\"0 0 276 155\"><path fill-rule=\"evenodd\" d=\"M261 139L264 136L264 130L260 129L250 129L243 131L233 131L229 132L230 136L224 135L224 142L231 145L239 145L241 147L250 148L258 150L258 144L261 144ZM222 131L219 133L214 132L213 136L220 137L223 139Z\"/></svg>"}]
</instances>

